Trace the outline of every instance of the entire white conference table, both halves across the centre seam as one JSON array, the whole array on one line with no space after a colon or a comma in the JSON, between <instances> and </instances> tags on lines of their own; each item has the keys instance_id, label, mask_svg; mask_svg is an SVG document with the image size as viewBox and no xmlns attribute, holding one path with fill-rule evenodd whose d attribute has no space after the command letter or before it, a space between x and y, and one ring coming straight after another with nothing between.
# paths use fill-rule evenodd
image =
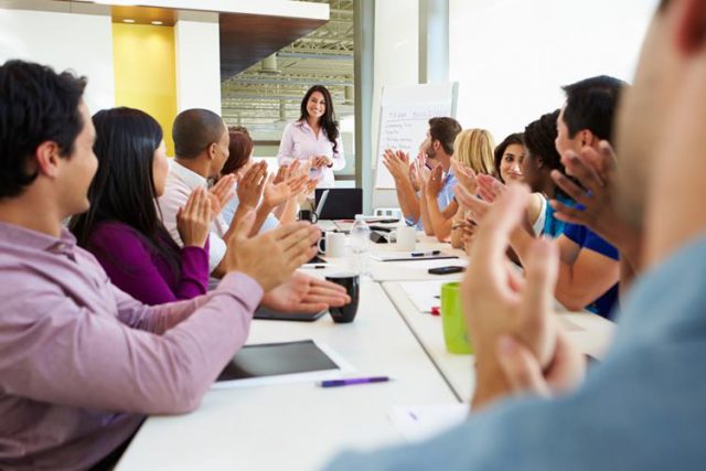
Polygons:
<instances>
[{"instance_id":1,"label":"entire white conference table, both halves across the centre seam","mask_svg":"<svg viewBox=\"0 0 706 471\"><path fill-rule=\"evenodd\" d=\"M421 234L416 249L462 256ZM440 318L420 312L400 282L460 280L462 274L437 276L427 269L464 264L463 258L371 260L372 279L362 280L351 324L333 324L329 315L312 323L253 322L250 344L313 339L356 368L349 376L388 375L395 381L330 389L302 383L212 390L192 414L150 417L116 470L318 470L346 448L403 441L388 417L392 407L467 402L474 376L472 356L446 351ZM351 257L330 258L324 269L304 271L323 277L351 266ZM565 318L569 335L600 358L612 323L589 313Z\"/></svg>"}]
</instances>

